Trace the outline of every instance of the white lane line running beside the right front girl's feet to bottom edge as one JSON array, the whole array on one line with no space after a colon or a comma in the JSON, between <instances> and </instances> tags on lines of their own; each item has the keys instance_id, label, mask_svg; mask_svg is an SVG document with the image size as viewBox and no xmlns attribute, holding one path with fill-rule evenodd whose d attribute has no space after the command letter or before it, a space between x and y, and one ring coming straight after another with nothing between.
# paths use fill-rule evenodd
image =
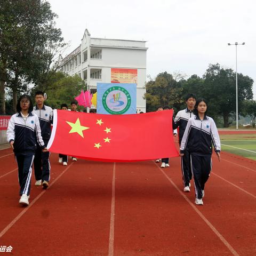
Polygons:
<instances>
[{"instance_id":1,"label":"white lane line running beside the right front girl's feet to bottom edge","mask_svg":"<svg viewBox=\"0 0 256 256\"><path fill-rule=\"evenodd\" d=\"M200 212L197 207L190 202L187 196L185 196L180 189L175 185L175 183L167 176L167 174L161 169L160 166L158 166L155 162L154 164L158 167L158 169L164 174L167 180L169 180L172 183L172 186L180 193L183 198L190 204L191 207L195 210L195 212L203 219L203 221L206 223L206 225L217 235L220 239L220 241L225 244L228 248L228 250L235 256L239 256L239 254L236 252L236 250L228 243L228 241L219 233L219 231L212 225L212 223L204 217L203 213Z\"/></svg>"}]
</instances>

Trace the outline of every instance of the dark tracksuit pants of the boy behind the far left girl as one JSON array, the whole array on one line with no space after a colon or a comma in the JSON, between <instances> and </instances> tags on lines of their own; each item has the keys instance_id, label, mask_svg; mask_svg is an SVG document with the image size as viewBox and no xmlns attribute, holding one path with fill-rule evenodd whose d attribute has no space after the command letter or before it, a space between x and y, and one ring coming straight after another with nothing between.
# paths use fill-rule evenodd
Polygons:
<instances>
[{"instance_id":1,"label":"dark tracksuit pants of the boy behind the far left girl","mask_svg":"<svg viewBox=\"0 0 256 256\"><path fill-rule=\"evenodd\" d=\"M47 145L47 143L45 144ZM34 159L34 169L36 180L49 181L50 180L50 152L43 152L41 148L37 148L35 159Z\"/></svg>"}]
</instances>

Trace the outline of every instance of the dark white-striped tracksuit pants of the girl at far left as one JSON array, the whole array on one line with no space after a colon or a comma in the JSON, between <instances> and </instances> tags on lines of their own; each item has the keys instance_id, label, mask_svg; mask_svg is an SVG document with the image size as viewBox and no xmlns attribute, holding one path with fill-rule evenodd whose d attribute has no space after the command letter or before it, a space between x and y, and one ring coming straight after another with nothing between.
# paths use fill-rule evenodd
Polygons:
<instances>
[{"instance_id":1,"label":"dark white-striped tracksuit pants of the girl at far left","mask_svg":"<svg viewBox=\"0 0 256 256\"><path fill-rule=\"evenodd\" d=\"M25 194L28 196L30 193L30 181L34 156L35 155L33 153L15 155L18 164L20 195Z\"/></svg>"}]
</instances>

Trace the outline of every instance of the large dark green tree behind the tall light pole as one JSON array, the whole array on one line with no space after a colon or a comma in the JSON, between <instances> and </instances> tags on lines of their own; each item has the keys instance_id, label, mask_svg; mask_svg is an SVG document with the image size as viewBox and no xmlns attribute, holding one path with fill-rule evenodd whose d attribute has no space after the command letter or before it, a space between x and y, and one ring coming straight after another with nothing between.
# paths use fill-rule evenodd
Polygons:
<instances>
[{"instance_id":1,"label":"large dark green tree behind the tall light pole","mask_svg":"<svg viewBox=\"0 0 256 256\"><path fill-rule=\"evenodd\" d=\"M232 69L223 68L219 63L209 65L204 76L202 94L209 101L212 114L223 117L224 127L229 126L229 117L236 110L236 78ZM253 79L238 74L238 112L242 113L242 101L250 100Z\"/></svg>"}]
</instances>

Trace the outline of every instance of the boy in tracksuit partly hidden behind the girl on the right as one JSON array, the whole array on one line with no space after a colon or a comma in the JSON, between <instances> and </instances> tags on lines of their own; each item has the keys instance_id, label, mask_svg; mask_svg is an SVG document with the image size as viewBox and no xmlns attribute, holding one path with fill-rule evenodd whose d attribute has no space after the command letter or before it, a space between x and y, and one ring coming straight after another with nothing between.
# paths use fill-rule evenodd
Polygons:
<instances>
[{"instance_id":1,"label":"boy in tracksuit partly hidden behind the girl on the right","mask_svg":"<svg viewBox=\"0 0 256 256\"><path fill-rule=\"evenodd\" d=\"M183 134L185 132L187 123L189 118L194 117L194 108L196 104L196 95L193 93L189 93L186 98L187 107L183 110L180 110L172 124L173 130L179 127L179 145L181 144L181 140ZM192 179L191 167L190 167L190 157L189 152L186 151L187 154L181 157L181 173L182 173L182 180L183 180L183 191L190 192L190 180Z\"/></svg>"}]
</instances>

